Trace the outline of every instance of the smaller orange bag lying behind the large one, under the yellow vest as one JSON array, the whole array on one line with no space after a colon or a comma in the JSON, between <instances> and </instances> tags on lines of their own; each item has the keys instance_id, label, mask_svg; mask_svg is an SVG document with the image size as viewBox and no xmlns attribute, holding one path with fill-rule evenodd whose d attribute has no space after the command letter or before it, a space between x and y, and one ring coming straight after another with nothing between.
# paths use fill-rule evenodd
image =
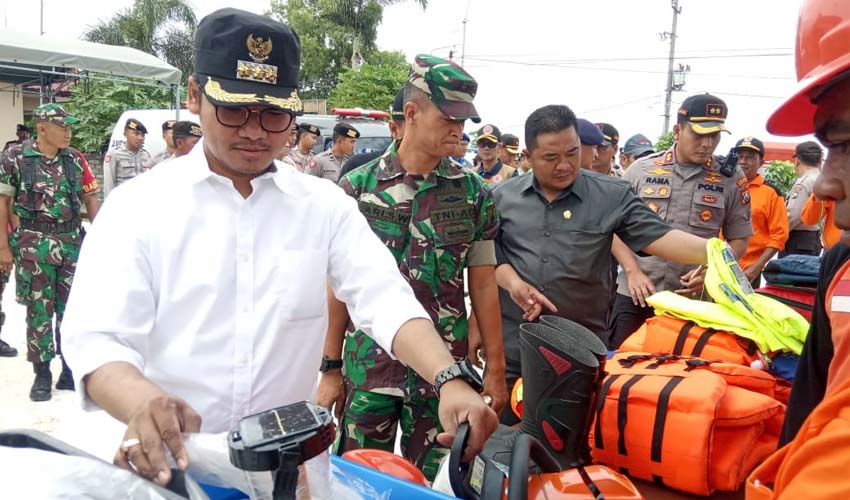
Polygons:
<instances>
[{"instance_id":1,"label":"smaller orange bag lying behind the large one, under the yellow vest","mask_svg":"<svg viewBox=\"0 0 850 500\"><path fill-rule=\"evenodd\" d=\"M744 366L759 360L758 348L750 339L667 316L646 320L619 350L694 356Z\"/></svg>"}]
</instances>

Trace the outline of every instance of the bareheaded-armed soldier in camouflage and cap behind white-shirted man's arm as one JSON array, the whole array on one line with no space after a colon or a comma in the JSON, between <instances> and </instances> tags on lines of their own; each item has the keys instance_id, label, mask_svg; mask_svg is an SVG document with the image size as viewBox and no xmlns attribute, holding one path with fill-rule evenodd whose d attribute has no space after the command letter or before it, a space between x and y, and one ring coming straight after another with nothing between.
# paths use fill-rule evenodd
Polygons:
<instances>
[{"instance_id":1,"label":"bareheaded-armed soldier in camouflage and cap behind white-shirted man's arm","mask_svg":"<svg viewBox=\"0 0 850 500\"><path fill-rule=\"evenodd\" d=\"M494 278L499 221L484 181L448 159L464 120L478 120L476 89L475 80L454 63L418 56L405 88L404 140L346 175L340 186L358 201L457 360L467 357L469 347L463 277L469 268L473 309L483 315L484 394L498 412L506 400ZM423 155L430 159L403 165ZM347 398L338 451L392 451L400 423L402 453L433 479L448 451L435 440L442 432L438 394L359 330L346 337L343 359Z\"/></svg>"}]
</instances>

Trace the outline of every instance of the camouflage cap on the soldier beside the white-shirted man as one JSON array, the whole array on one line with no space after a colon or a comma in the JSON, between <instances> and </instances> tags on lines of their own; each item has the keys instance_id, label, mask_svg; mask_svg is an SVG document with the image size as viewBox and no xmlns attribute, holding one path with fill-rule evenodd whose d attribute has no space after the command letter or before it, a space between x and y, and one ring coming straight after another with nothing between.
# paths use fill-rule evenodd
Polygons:
<instances>
[{"instance_id":1,"label":"camouflage cap on the soldier beside the white-shirted man","mask_svg":"<svg viewBox=\"0 0 850 500\"><path fill-rule=\"evenodd\" d=\"M419 54L408 79L431 97L437 109L453 120L481 122L472 104L478 82L457 64L428 54Z\"/></svg>"}]
</instances>

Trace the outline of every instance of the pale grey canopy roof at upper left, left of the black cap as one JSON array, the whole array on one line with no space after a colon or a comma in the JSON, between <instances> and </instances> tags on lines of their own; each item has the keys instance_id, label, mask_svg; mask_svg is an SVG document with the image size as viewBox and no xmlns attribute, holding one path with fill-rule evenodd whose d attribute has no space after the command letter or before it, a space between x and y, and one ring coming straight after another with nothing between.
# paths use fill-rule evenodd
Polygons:
<instances>
[{"instance_id":1,"label":"pale grey canopy roof at upper left, left of the black cap","mask_svg":"<svg viewBox=\"0 0 850 500\"><path fill-rule=\"evenodd\" d=\"M131 78L179 84L180 70L130 47L0 30L0 62L77 68Z\"/></svg>"}]
</instances>

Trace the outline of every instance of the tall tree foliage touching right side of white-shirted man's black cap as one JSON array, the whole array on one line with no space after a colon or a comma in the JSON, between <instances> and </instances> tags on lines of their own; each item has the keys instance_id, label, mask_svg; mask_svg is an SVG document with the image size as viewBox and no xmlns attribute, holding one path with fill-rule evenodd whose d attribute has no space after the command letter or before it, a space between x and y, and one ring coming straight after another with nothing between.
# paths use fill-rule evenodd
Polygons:
<instances>
[{"instance_id":1,"label":"tall tree foliage touching right side of white-shirted man's black cap","mask_svg":"<svg viewBox=\"0 0 850 500\"><path fill-rule=\"evenodd\" d=\"M268 16L284 22L301 39L301 94L330 95L357 51L367 64L385 65L375 39L384 6L403 0L272 0ZM423 8L427 0L416 0ZM394 57L394 56L389 56Z\"/></svg>"}]
</instances>

